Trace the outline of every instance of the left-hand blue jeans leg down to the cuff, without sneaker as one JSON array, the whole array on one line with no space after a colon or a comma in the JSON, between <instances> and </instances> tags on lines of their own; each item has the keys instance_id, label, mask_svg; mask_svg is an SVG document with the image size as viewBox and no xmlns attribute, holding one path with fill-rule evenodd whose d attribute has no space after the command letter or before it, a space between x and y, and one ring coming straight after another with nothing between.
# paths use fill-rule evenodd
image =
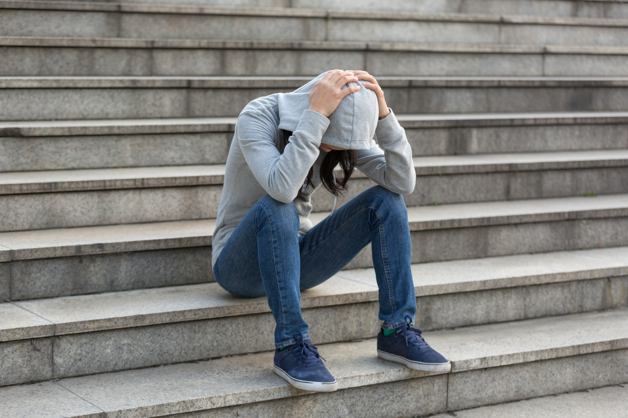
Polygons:
<instances>
[{"instance_id":1,"label":"left-hand blue jeans leg down to the cuff, without sneaker","mask_svg":"<svg viewBox=\"0 0 628 418\"><path fill-rule=\"evenodd\" d=\"M232 295L266 294L276 348L294 344L296 332L310 338L301 317L298 231L295 204L266 195L242 218L214 265L215 280Z\"/></svg>"}]
</instances>

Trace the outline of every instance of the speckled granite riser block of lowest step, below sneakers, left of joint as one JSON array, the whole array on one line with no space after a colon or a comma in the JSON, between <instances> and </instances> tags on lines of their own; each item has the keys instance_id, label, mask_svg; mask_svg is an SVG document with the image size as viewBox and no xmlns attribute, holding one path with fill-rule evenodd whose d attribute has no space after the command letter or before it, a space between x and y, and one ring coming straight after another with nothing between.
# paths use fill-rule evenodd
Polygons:
<instances>
[{"instance_id":1,"label":"speckled granite riser block of lowest step, below sneakers, left of joint","mask_svg":"<svg viewBox=\"0 0 628 418\"><path fill-rule=\"evenodd\" d=\"M209 409L176 418L372 417L437 414L447 404L447 375L401 380L367 387L310 394L290 399ZM165 418L165 417L163 417Z\"/></svg>"}]
</instances>

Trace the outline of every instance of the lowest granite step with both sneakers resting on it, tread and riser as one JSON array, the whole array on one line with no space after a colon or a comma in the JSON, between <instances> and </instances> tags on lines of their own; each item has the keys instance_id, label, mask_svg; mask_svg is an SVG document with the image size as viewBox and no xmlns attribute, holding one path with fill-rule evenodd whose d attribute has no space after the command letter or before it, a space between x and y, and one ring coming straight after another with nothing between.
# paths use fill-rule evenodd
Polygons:
<instances>
[{"instance_id":1,"label":"lowest granite step with both sneakers resting on it, tread and riser","mask_svg":"<svg viewBox=\"0 0 628 418\"><path fill-rule=\"evenodd\" d=\"M45 412L51 402L56 417L435 414L625 382L626 318L615 310L427 332L452 360L452 372L440 375L378 359L372 339L320 345L340 386L334 394L293 389L264 352L6 387L0 402L11 418L53 416Z\"/></svg>"}]
</instances>

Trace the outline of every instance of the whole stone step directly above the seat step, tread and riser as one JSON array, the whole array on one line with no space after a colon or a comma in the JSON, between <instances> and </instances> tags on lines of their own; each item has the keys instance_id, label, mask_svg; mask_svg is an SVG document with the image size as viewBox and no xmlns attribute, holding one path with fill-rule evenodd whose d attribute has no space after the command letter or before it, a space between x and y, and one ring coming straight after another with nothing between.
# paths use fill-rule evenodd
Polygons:
<instances>
[{"instance_id":1,"label":"whole stone step directly above the seat step, tread and riser","mask_svg":"<svg viewBox=\"0 0 628 418\"><path fill-rule=\"evenodd\" d=\"M409 207L412 261L626 246L627 216L625 194ZM199 220L0 233L0 300L211 282L214 227ZM368 267L370 246L346 269Z\"/></svg>"}]
</instances>

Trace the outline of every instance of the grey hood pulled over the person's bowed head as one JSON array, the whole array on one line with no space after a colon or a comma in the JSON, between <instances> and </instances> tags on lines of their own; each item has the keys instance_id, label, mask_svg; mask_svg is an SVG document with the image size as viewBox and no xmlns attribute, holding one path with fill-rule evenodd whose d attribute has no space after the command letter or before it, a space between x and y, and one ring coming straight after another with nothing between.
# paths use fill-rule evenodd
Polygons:
<instances>
[{"instance_id":1,"label":"grey hood pulled over the person's bowed head","mask_svg":"<svg viewBox=\"0 0 628 418\"><path fill-rule=\"evenodd\" d=\"M310 91L312 86L328 71L316 76L304 86L291 93L279 93L279 129L294 132L301 120L301 113L310 107ZM349 86L361 85L368 81L347 83ZM371 139L375 135L379 104L377 95L370 88L362 87L340 100L336 110L329 115L329 127L323 134L321 142L335 147L351 150L367 150L371 148Z\"/></svg>"}]
</instances>

